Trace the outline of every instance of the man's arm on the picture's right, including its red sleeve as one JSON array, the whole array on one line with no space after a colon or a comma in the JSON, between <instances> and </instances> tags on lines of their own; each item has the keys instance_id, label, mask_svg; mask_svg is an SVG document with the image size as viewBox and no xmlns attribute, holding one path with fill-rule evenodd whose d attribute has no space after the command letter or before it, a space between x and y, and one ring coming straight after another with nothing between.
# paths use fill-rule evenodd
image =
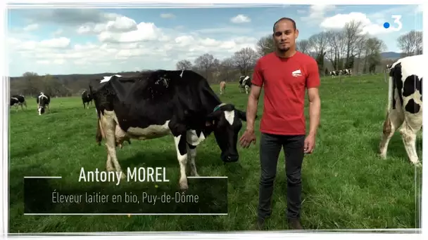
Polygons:
<instances>
[{"instance_id":1,"label":"man's arm on the picture's right, including its red sleeve","mask_svg":"<svg viewBox=\"0 0 428 240\"><path fill-rule=\"evenodd\" d=\"M320 74L318 65L315 60L308 65L308 76L306 78L306 88L308 88L309 98L309 133L308 138L312 138L313 142L308 142L306 148L308 152L312 152L315 146L315 135L320 124L321 100L318 91L320 86Z\"/></svg>"}]
</instances>

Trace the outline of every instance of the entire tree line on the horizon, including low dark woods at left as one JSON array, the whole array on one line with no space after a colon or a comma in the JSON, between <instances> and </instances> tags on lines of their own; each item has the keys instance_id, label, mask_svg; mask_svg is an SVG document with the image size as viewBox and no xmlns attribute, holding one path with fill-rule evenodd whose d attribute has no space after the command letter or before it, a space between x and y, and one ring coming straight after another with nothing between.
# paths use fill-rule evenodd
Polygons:
<instances>
[{"instance_id":1,"label":"entire tree line on the horizon, including low dark woods at left","mask_svg":"<svg viewBox=\"0 0 428 240\"><path fill-rule=\"evenodd\" d=\"M298 39L298 51L311 55L317 60L321 75L329 71L345 68L353 69L353 74L374 74L383 72L387 64L406 55L422 53L422 32L410 31L397 39L401 55L394 58L382 58L386 44L370 34L363 34L361 22L348 22L338 30L319 32L308 39ZM192 69L205 76L210 83L237 81L239 76L253 72L256 61L274 51L272 35L262 36L256 49L241 48L229 58L219 60L210 53L204 53L193 62L180 60L176 69ZM138 72L112 72L99 74L68 74L39 76L34 72L25 72L23 76L11 77L11 94L34 96L41 91L52 96L66 97L80 95L88 88L89 79L102 78L113 74L131 76Z\"/></svg>"}]
</instances>

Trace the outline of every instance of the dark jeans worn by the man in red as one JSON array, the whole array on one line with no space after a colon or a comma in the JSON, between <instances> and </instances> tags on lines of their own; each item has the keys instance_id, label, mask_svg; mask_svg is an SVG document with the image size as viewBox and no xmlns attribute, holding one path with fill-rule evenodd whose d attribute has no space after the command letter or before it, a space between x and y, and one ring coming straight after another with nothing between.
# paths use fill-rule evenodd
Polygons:
<instances>
[{"instance_id":1,"label":"dark jeans worn by the man in red","mask_svg":"<svg viewBox=\"0 0 428 240\"><path fill-rule=\"evenodd\" d=\"M260 192L258 217L267 218L271 213L273 182L277 175L279 152L284 147L287 175L287 218L300 218L301 211L301 166L303 162L305 135L273 135L261 133L260 138Z\"/></svg>"}]
</instances>

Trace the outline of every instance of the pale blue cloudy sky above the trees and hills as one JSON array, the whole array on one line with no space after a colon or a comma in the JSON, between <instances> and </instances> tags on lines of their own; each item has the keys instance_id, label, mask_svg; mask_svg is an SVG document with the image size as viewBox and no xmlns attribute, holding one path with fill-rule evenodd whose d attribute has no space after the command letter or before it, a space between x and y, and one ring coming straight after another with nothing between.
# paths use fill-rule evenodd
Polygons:
<instances>
[{"instance_id":1,"label":"pale blue cloudy sky above the trees and hills","mask_svg":"<svg viewBox=\"0 0 428 240\"><path fill-rule=\"evenodd\" d=\"M392 15L401 15L401 29ZM360 20L395 52L399 36L422 31L422 5L9 9L9 76L175 69L204 53L222 60L256 49L282 17L296 20L297 41Z\"/></svg>"}]
</instances>

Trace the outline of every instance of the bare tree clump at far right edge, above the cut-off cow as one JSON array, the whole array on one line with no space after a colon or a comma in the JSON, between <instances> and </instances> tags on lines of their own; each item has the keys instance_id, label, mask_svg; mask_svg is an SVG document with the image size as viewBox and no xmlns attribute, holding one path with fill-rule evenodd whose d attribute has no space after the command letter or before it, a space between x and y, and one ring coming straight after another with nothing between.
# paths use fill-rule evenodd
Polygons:
<instances>
[{"instance_id":1,"label":"bare tree clump at far right edge, above the cut-off cow","mask_svg":"<svg viewBox=\"0 0 428 240\"><path fill-rule=\"evenodd\" d=\"M397 41L403 56L422 54L422 32L412 30L398 37Z\"/></svg>"}]
</instances>

